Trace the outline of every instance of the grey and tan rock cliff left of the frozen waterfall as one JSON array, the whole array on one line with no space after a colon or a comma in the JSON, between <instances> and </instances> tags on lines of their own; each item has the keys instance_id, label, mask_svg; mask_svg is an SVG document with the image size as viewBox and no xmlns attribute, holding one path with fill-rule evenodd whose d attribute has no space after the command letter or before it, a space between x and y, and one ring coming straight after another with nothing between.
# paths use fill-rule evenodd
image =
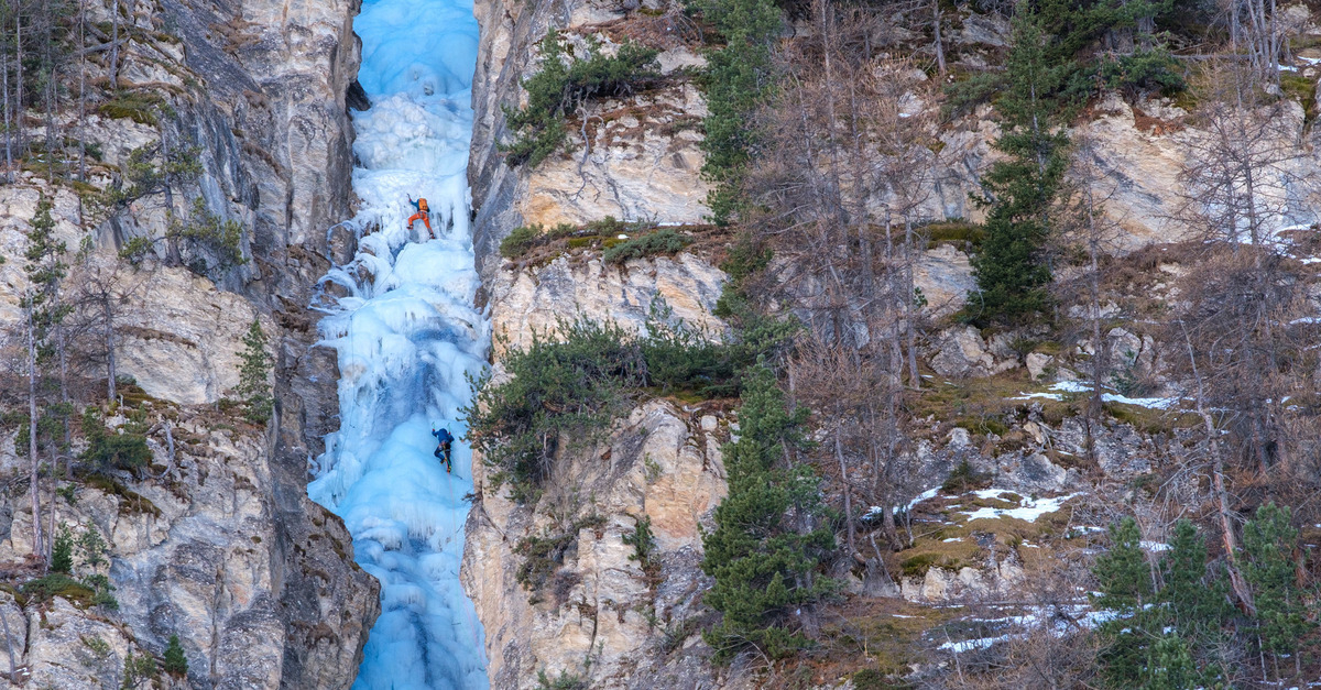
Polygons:
<instances>
[{"instance_id":1,"label":"grey and tan rock cliff left of the frozen waterfall","mask_svg":"<svg viewBox=\"0 0 1321 690\"><path fill-rule=\"evenodd\" d=\"M20 591L3 612L9 662L26 666L38 686L119 687L129 654L159 657L178 634L190 687L347 687L376 615L376 586L353 563L339 519L306 498L308 460L336 426L334 354L313 346L308 304L330 266L326 229L354 204L345 95L359 58L358 4L114 7L122 12L114 53L106 50L111 3L87 7L89 30L107 42L86 63L89 115L78 122L75 103L57 122L87 141L87 184L52 185L22 172L0 186L0 247L9 258L0 266L0 319L8 361L22 361L22 234L48 196L70 254L91 239L75 271L99 271L111 286L118 369L136 383L122 385L131 398L122 408L147 410L153 459L147 472L42 497L44 509L54 502L57 525L112 545L98 572L115 587L119 612ZM185 172L173 185L166 178L173 189L123 193L137 181L135 151L157 169L173 155ZM178 262L188 267L166 266L177 251L170 219L190 215L194 198L218 222L240 223L242 264L196 246ZM115 254L141 239L152 243L141 270L116 264ZM217 407L232 395L254 319L275 358L266 434ZM79 375L95 381L98 371ZM15 449L13 427L5 439L0 465L13 479L25 453ZM29 497L18 481L7 486L0 562L20 567L30 549Z\"/></svg>"}]
</instances>

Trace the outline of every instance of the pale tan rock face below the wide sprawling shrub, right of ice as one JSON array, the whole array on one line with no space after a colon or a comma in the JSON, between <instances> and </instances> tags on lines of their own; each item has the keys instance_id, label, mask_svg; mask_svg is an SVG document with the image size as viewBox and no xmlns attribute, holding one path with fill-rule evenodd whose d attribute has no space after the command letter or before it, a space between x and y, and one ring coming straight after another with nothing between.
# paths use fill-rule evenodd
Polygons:
<instances>
[{"instance_id":1,"label":"pale tan rock face below the wide sprawling shrub, right of ice","mask_svg":"<svg viewBox=\"0 0 1321 690\"><path fill-rule=\"evenodd\" d=\"M462 578L486 631L493 687L535 689L538 671L602 689L711 686L711 652L696 636L709 612L699 530L725 494L719 443L728 439L723 420L711 426L649 402L606 443L565 453L535 510L482 490L486 471L474 464L482 498L468 519ZM624 542L639 518L655 535L646 562ZM572 542L561 562L526 588L519 545L557 537Z\"/></svg>"}]
</instances>

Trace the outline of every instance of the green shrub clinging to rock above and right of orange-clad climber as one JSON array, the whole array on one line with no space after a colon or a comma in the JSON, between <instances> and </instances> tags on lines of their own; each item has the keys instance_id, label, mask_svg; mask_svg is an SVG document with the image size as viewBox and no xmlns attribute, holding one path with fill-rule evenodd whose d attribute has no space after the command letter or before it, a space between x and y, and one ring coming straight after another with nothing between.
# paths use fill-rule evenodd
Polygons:
<instances>
[{"instance_id":1,"label":"green shrub clinging to rock above and right of orange-clad climber","mask_svg":"<svg viewBox=\"0 0 1321 690\"><path fill-rule=\"evenodd\" d=\"M631 94L639 85L659 77L655 49L625 41L614 56L601 54L596 37L588 37L587 56L569 54L560 33L551 29L542 40L542 70L523 81L527 106L503 106L505 124L517 139L502 144L510 167L539 165L568 137L564 118L592 98Z\"/></svg>"}]
</instances>

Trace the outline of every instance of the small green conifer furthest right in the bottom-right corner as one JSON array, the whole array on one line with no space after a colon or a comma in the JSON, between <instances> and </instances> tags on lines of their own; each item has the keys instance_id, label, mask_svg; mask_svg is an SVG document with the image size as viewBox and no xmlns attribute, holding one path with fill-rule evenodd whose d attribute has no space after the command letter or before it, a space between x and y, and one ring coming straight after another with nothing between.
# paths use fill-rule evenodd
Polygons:
<instances>
[{"instance_id":1,"label":"small green conifer furthest right in the bottom-right corner","mask_svg":"<svg viewBox=\"0 0 1321 690\"><path fill-rule=\"evenodd\" d=\"M1243 525L1243 578L1256 604L1256 634L1262 649L1276 656L1296 654L1303 636L1316 624L1308 620L1304 592L1297 583L1303 567L1296 555L1299 530L1288 506L1268 502Z\"/></svg>"}]
</instances>

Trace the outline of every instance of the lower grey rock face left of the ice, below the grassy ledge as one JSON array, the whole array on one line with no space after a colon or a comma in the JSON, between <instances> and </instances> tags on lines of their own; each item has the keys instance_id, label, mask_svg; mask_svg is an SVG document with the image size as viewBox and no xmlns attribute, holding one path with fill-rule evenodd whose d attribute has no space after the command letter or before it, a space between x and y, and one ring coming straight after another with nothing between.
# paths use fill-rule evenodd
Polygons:
<instances>
[{"instance_id":1,"label":"lower grey rock face left of the ice, below the grassy ledge","mask_svg":"<svg viewBox=\"0 0 1321 690\"><path fill-rule=\"evenodd\" d=\"M304 498L309 529L284 542L259 430L232 431L232 423L214 415L161 411L177 420L162 416L149 436L152 479L115 473L79 485L71 501L54 505L57 525L75 537L94 533L108 545L108 563L100 566L77 551L74 575L108 575L118 612L67 596L28 596L21 609L0 601L12 631L25 634L16 664L26 666L38 687L99 689L123 669L128 653L160 656L177 634L189 662L188 687L287 687L283 678L301 658L309 665L297 669L305 683L299 687L347 687L351 675L337 674L361 662L379 604L375 580L342 560L351 549L342 522ZM173 460L165 423L176 444ZM18 473L25 461L0 453L0 472ZM50 504L42 505L49 510ZM0 562L16 563L32 550L26 493L8 496L4 513ZM49 519L42 516L44 523ZM303 554L300 570L288 568L289 551ZM354 576L332 582L341 568ZM314 592L309 604L333 613L308 627L291 621L280 597L296 584Z\"/></svg>"}]
</instances>

